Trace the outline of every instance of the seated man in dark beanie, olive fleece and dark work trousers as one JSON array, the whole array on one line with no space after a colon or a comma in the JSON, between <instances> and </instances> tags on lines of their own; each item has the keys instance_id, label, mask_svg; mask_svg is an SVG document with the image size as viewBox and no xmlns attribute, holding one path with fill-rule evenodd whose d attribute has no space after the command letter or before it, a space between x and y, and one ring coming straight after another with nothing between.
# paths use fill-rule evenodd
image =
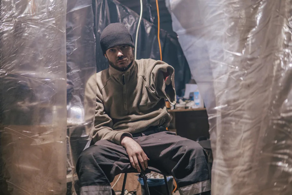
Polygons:
<instances>
[{"instance_id":1,"label":"seated man in dark beanie, olive fleece and dark work trousers","mask_svg":"<svg viewBox=\"0 0 292 195\"><path fill-rule=\"evenodd\" d=\"M111 195L116 175L148 166L174 176L181 195L210 194L203 148L166 130L172 117L165 99L176 103L172 66L134 60L134 41L122 23L107 26L100 45L109 68L96 74L95 144L76 166L81 195Z\"/></svg>"}]
</instances>

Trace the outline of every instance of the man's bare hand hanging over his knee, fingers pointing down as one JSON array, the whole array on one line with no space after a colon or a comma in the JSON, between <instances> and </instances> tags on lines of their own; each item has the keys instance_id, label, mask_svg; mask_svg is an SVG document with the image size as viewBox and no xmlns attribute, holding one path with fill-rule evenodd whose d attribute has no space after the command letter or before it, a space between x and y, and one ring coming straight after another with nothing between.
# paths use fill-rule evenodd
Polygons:
<instances>
[{"instance_id":1,"label":"man's bare hand hanging over his knee, fingers pointing down","mask_svg":"<svg viewBox=\"0 0 292 195\"><path fill-rule=\"evenodd\" d=\"M143 170L148 168L148 161L150 159L147 157L147 155L144 153L143 149L137 142L135 142L130 137L122 136L121 145L126 149L127 154L129 155L131 165L136 168L139 173L141 172L139 162Z\"/></svg>"}]
</instances>

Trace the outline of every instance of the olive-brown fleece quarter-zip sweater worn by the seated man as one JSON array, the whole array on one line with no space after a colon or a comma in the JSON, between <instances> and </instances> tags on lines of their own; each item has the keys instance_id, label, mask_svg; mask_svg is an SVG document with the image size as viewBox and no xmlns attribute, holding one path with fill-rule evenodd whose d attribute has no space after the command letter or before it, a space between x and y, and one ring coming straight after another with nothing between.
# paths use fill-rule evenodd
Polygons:
<instances>
[{"instance_id":1,"label":"olive-brown fleece quarter-zip sweater worn by the seated man","mask_svg":"<svg viewBox=\"0 0 292 195\"><path fill-rule=\"evenodd\" d=\"M165 73L169 74L165 80ZM109 67L96 74L96 112L92 140L120 145L122 136L142 132L150 126L169 126L172 116L165 98L176 103L174 69L162 61L135 60L119 71Z\"/></svg>"}]
</instances>

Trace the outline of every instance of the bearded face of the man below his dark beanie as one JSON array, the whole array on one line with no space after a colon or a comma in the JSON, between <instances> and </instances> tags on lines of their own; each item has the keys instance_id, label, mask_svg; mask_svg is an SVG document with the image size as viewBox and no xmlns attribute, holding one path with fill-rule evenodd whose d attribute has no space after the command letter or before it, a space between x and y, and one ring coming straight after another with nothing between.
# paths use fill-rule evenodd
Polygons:
<instances>
[{"instance_id":1,"label":"bearded face of the man below his dark beanie","mask_svg":"<svg viewBox=\"0 0 292 195\"><path fill-rule=\"evenodd\" d=\"M134 48L128 45L118 45L106 50L109 65L120 71L127 70L134 60Z\"/></svg>"}]
</instances>

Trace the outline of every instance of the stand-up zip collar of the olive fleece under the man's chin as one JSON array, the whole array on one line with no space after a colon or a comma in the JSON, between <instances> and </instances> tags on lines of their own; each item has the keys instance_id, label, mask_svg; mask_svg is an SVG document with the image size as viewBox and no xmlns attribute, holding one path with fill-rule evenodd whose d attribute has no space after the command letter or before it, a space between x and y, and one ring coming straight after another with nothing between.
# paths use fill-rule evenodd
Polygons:
<instances>
[{"instance_id":1,"label":"stand-up zip collar of the olive fleece under the man's chin","mask_svg":"<svg viewBox=\"0 0 292 195\"><path fill-rule=\"evenodd\" d=\"M135 60L132 65L126 71L120 71L112 66L109 66L109 76L120 84L127 84L130 80L133 80L137 74L137 66Z\"/></svg>"}]
</instances>

